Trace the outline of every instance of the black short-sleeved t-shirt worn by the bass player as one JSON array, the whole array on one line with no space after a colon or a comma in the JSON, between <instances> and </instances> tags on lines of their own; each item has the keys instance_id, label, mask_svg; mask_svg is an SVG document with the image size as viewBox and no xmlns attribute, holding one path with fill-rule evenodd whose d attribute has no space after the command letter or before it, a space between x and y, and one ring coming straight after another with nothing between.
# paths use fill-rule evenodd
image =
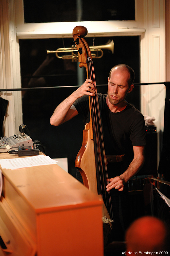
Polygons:
<instances>
[{"instance_id":1,"label":"black short-sleeved t-shirt worn by the bass player","mask_svg":"<svg viewBox=\"0 0 170 256\"><path fill-rule=\"evenodd\" d=\"M127 102L123 111L113 113L106 104L106 94L97 94L103 129L104 150L106 155L125 154L125 169L133 160L133 146L144 146L145 122L139 110ZM89 97L77 99L73 105L79 114L89 122Z\"/></svg>"}]
</instances>

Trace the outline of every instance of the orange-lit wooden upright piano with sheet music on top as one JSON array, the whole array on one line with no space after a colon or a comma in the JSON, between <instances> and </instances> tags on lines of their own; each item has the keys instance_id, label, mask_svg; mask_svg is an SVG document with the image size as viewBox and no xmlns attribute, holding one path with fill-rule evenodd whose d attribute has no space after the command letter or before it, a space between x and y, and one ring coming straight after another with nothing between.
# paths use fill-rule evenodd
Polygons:
<instances>
[{"instance_id":1,"label":"orange-lit wooden upright piano with sheet music on top","mask_svg":"<svg viewBox=\"0 0 170 256\"><path fill-rule=\"evenodd\" d=\"M0 256L103 255L98 196L57 164L2 173Z\"/></svg>"}]
</instances>

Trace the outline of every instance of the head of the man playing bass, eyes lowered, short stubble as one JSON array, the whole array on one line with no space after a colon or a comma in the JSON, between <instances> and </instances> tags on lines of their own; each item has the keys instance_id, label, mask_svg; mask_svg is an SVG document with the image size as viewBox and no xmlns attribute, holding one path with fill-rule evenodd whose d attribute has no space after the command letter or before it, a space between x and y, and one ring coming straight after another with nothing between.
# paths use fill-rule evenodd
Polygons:
<instances>
[{"instance_id":1,"label":"head of the man playing bass, eyes lowered, short stubble","mask_svg":"<svg viewBox=\"0 0 170 256\"><path fill-rule=\"evenodd\" d=\"M131 92L134 85L129 87L129 72L125 68L115 68L108 78L108 99L111 104L122 106L125 102L127 93Z\"/></svg>"}]
</instances>

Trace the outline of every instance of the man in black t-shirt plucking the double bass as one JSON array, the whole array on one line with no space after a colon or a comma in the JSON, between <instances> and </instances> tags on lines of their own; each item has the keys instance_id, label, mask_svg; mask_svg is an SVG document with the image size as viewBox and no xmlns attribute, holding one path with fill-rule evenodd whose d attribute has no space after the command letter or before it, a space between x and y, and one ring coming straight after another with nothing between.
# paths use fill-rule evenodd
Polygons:
<instances>
[{"instance_id":1,"label":"man in black t-shirt plucking the double bass","mask_svg":"<svg viewBox=\"0 0 170 256\"><path fill-rule=\"evenodd\" d=\"M104 150L106 156L125 155L122 161L107 164L108 185L113 211L113 240L123 240L128 227L128 184L143 166L145 123L143 115L126 100L133 88L135 73L129 66L114 66L108 77L108 94L98 94ZM95 96L93 81L87 79L75 92L61 102L50 118L58 126L78 114L89 122L89 97ZM114 163L113 163L114 162ZM81 180L77 173L77 178ZM80 178L79 178L80 177Z\"/></svg>"}]
</instances>

